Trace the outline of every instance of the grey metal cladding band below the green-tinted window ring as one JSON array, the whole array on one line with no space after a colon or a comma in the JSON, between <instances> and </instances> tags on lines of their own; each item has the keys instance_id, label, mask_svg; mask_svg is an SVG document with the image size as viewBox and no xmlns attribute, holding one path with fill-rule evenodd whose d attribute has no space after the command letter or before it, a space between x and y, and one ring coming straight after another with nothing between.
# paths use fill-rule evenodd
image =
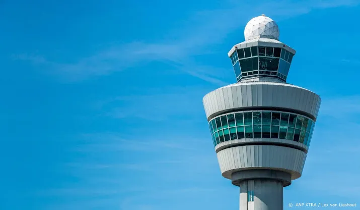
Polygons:
<instances>
[{"instance_id":1,"label":"grey metal cladding band below the green-tinted window ring","mask_svg":"<svg viewBox=\"0 0 360 210\"><path fill-rule=\"evenodd\" d=\"M228 179L236 171L266 168L289 172L294 180L301 176L306 160L306 153L301 150L275 145L231 147L217 156L221 173Z\"/></svg>"}]
</instances>

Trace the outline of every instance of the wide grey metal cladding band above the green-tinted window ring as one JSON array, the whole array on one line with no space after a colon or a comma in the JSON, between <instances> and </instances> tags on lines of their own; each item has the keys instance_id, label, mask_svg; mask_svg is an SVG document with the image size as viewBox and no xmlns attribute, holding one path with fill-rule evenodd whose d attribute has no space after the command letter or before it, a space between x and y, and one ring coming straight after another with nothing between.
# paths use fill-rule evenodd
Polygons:
<instances>
[{"instance_id":1,"label":"wide grey metal cladding band above the green-tinted window ring","mask_svg":"<svg viewBox=\"0 0 360 210\"><path fill-rule=\"evenodd\" d=\"M309 90L277 82L236 83L208 93L203 101L208 120L229 109L252 107L293 109L316 118L321 103Z\"/></svg>"}]
</instances>

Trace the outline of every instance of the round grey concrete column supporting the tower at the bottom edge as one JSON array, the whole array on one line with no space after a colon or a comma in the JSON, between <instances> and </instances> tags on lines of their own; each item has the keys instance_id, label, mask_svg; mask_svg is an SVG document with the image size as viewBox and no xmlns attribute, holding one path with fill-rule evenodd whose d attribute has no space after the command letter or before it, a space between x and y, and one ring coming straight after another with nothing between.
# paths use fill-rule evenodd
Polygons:
<instances>
[{"instance_id":1,"label":"round grey concrete column supporting the tower at the bottom edge","mask_svg":"<svg viewBox=\"0 0 360 210\"><path fill-rule=\"evenodd\" d=\"M248 193L250 193L250 201L248 201ZM253 199L251 199L252 194ZM240 210L282 210L282 196L281 181L273 179L246 180L240 183Z\"/></svg>"}]
</instances>

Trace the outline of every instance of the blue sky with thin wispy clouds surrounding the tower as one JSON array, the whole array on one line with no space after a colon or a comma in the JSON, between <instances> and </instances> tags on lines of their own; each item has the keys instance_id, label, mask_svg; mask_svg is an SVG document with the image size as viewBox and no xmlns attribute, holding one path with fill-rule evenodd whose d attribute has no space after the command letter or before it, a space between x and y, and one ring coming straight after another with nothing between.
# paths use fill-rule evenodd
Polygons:
<instances>
[{"instance_id":1,"label":"blue sky with thin wispy clouds surrounding the tower","mask_svg":"<svg viewBox=\"0 0 360 210\"><path fill-rule=\"evenodd\" d=\"M289 202L360 205L360 2L2 1L1 209L237 209L202 97L265 14L323 101ZM285 207L285 209L287 209Z\"/></svg>"}]
</instances>

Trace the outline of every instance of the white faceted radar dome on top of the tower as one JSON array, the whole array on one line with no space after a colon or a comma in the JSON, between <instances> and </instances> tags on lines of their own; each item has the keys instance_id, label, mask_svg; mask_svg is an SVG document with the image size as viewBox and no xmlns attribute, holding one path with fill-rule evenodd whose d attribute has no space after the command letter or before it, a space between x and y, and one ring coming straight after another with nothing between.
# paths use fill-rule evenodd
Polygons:
<instances>
[{"instance_id":1,"label":"white faceted radar dome on top of the tower","mask_svg":"<svg viewBox=\"0 0 360 210\"><path fill-rule=\"evenodd\" d=\"M265 15L251 19L245 26L245 40L256 37L279 39L279 27L271 18Z\"/></svg>"}]
</instances>

